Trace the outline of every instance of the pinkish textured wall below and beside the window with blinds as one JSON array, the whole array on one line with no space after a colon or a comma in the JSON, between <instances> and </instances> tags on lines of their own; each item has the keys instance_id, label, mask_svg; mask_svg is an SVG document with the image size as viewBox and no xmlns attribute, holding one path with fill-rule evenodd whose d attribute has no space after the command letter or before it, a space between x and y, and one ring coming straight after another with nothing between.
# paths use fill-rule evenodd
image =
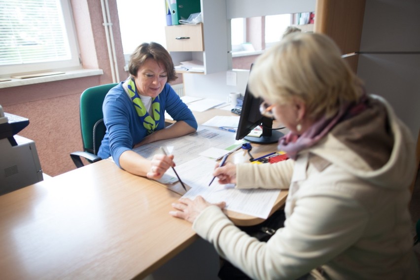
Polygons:
<instances>
[{"instance_id":1,"label":"pinkish textured wall below and beside the window with blinds","mask_svg":"<svg viewBox=\"0 0 420 280\"><path fill-rule=\"evenodd\" d=\"M124 79L127 73L123 69L116 0L108 1L119 75ZM112 82L101 1L71 0L71 4L82 63L85 68L102 69L104 74L0 89L4 111L29 118L29 126L19 135L35 141L43 172L52 176L74 169L69 153L82 149L80 94L88 87Z\"/></svg>"}]
</instances>

